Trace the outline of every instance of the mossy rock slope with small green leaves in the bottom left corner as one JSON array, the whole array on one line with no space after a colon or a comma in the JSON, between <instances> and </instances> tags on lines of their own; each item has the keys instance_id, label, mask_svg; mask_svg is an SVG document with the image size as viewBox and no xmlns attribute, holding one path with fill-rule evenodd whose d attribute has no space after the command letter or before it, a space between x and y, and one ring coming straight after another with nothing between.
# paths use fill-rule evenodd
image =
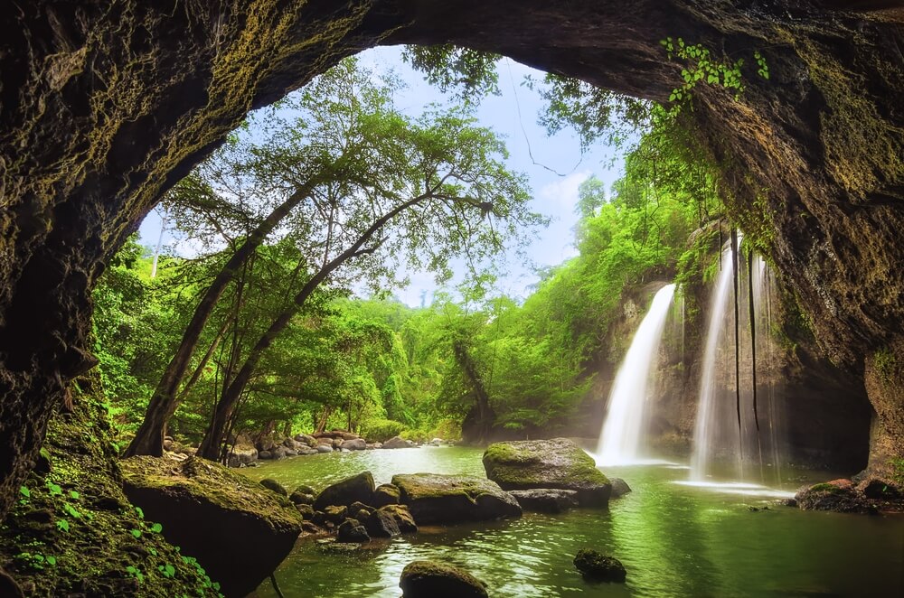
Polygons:
<instances>
[{"instance_id":1,"label":"mossy rock slope with small green leaves in the bottom left corner","mask_svg":"<svg viewBox=\"0 0 904 598\"><path fill-rule=\"evenodd\" d=\"M48 428L42 471L29 475L0 528L0 566L31 595L218 595L200 565L122 493L99 380L80 386L74 410Z\"/></svg>"}]
</instances>

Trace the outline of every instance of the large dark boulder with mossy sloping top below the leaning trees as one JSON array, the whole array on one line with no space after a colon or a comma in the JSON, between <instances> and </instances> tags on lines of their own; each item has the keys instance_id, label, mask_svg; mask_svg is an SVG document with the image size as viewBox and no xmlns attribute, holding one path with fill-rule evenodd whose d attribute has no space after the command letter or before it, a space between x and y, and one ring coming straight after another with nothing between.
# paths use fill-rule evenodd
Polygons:
<instances>
[{"instance_id":1,"label":"large dark boulder with mossy sloping top below the leaning trees","mask_svg":"<svg viewBox=\"0 0 904 598\"><path fill-rule=\"evenodd\" d=\"M162 523L166 539L196 556L228 596L254 590L301 533L301 514L287 498L218 463L132 457L122 467L129 500Z\"/></svg>"}]
</instances>

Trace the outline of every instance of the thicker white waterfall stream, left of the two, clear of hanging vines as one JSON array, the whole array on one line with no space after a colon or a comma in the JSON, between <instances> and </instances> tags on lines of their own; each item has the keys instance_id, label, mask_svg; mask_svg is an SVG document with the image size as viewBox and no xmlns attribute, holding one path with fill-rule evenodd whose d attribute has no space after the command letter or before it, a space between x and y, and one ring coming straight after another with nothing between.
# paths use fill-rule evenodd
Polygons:
<instances>
[{"instance_id":1,"label":"thicker white waterfall stream, left of the two, clear of hanging vines","mask_svg":"<svg viewBox=\"0 0 904 598\"><path fill-rule=\"evenodd\" d=\"M675 285L665 285L656 293L618 368L609 393L606 423L599 434L598 465L624 465L638 459L650 378L674 291Z\"/></svg>"}]
</instances>

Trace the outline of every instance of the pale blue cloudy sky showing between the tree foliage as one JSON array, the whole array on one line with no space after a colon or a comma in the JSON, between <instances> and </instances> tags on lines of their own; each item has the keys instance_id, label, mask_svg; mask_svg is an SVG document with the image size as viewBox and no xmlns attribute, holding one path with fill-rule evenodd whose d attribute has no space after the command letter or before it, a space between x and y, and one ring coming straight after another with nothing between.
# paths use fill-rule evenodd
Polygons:
<instances>
[{"instance_id":1,"label":"pale blue cloudy sky showing between the tree foliage","mask_svg":"<svg viewBox=\"0 0 904 598\"><path fill-rule=\"evenodd\" d=\"M393 70L406 83L406 89L400 91L395 101L397 107L412 116L419 115L430 103L453 101L428 85L420 73L401 60L400 47L374 48L362 52L358 58L363 67L376 74ZM547 135L546 129L537 124L543 100L538 92L522 85L526 75L541 79L540 71L507 58L498 63L497 70L501 94L484 98L477 107L476 117L480 125L493 128L504 138L510 153L509 168L528 177L533 193L532 209L551 218L549 227L541 229L539 238L528 250L532 265L523 265L513 252L501 258L503 276L497 281L496 293L523 299L530 294L531 285L539 280L533 266L556 266L577 255L573 228L578 220L574 208L580 183L596 175L608 190L621 174L622 160L616 150L602 143L581 154L578 136L571 130ZM139 229L142 245L155 247L160 238L160 224L159 214L152 211ZM186 253L184 245L166 232L163 242L164 253ZM463 271L461 265L453 267ZM433 275L411 271L409 277L410 285L396 289L393 294L411 306L429 304L437 290Z\"/></svg>"}]
</instances>

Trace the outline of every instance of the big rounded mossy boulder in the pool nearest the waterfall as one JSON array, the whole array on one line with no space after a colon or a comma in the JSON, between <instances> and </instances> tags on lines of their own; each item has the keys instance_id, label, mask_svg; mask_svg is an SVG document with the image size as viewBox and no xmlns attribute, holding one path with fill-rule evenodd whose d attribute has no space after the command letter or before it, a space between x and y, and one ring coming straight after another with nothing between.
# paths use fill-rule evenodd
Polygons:
<instances>
[{"instance_id":1,"label":"big rounded mossy boulder in the pool nearest the waterfall","mask_svg":"<svg viewBox=\"0 0 904 598\"><path fill-rule=\"evenodd\" d=\"M567 438L490 444L484 469L486 477L504 490L577 491L582 507L606 507L612 492L593 458Z\"/></svg>"}]
</instances>

